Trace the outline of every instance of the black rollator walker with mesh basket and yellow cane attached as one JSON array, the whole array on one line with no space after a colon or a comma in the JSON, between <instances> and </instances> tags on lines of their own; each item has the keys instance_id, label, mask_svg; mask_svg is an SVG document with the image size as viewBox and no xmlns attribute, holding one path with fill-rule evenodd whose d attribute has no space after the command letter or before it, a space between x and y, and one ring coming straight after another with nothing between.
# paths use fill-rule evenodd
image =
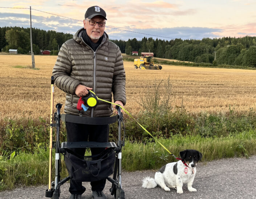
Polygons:
<instances>
[{"instance_id":1,"label":"black rollator walker with mesh basket and yellow cane attached","mask_svg":"<svg viewBox=\"0 0 256 199\"><path fill-rule=\"evenodd\" d=\"M53 114L53 95L54 95L54 77L51 79L51 117L50 117L50 143L49 143L49 185L45 191L47 198L58 199L60 197L60 187L69 179L73 178L76 181L91 182L99 179L106 178L112 183L110 188L110 194L114 195L115 199L125 199L125 192L122 189L122 146L124 146L124 139L122 141L122 124L123 114L121 108L117 106L118 114L112 117L93 118L82 117L81 115L69 115L60 114L62 104L57 103L56 113ZM97 97L97 96L96 96ZM53 123L53 120L55 123ZM99 142L62 142L60 143L60 120L66 122L73 122L79 124L111 124L118 123L118 141L99 143ZM56 127L56 140L52 140L53 127ZM106 148L102 153L94 156L77 157L70 151L70 148ZM55 178L52 181L52 148L55 148ZM61 156L64 155L66 167L68 169L69 176L61 179ZM113 174L113 178L109 177Z\"/></svg>"}]
</instances>

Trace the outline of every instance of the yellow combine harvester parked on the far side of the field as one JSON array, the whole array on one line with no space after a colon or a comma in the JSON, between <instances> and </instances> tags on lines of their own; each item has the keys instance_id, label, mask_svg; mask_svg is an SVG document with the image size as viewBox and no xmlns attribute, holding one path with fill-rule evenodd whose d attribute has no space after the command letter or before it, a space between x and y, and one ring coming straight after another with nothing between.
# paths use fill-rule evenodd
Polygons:
<instances>
[{"instance_id":1,"label":"yellow combine harvester parked on the far side of the field","mask_svg":"<svg viewBox=\"0 0 256 199\"><path fill-rule=\"evenodd\" d=\"M141 56L139 59L134 59L134 68L139 69L155 69L161 70L161 65L154 65L152 62L153 56Z\"/></svg>"}]
</instances>

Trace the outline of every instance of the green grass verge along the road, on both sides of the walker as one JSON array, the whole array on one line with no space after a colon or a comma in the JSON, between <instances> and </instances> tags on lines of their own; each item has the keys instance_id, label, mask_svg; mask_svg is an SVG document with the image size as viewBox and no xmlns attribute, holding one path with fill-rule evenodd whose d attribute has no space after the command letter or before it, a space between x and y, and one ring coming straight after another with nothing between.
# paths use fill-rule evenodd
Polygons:
<instances>
[{"instance_id":1,"label":"green grass verge along the road, on both sides of the walker","mask_svg":"<svg viewBox=\"0 0 256 199\"><path fill-rule=\"evenodd\" d=\"M227 137L200 137L175 135L170 139L159 139L168 150L179 156L179 151L196 149L203 154L202 161L228 157L255 155L255 130ZM52 179L54 177L54 152ZM63 159L63 158L62 158ZM0 156L0 191L13 189L16 185L48 183L49 151L38 148L35 153L20 152L11 158ZM131 143L126 141L122 149L122 168L126 171L159 169L167 162L175 161L158 143ZM61 177L68 175L62 160ZM46 187L47 188L47 187Z\"/></svg>"}]
</instances>

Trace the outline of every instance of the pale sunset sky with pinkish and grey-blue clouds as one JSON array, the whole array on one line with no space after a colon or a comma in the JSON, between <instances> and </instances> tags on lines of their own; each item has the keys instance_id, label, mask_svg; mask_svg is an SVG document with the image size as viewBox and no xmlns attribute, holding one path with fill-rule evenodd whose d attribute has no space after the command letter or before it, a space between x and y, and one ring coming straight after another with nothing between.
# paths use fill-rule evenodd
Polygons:
<instances>
[{"instance_id":1,"label":"pale sunset sky with pinkish and grey-blue clouds","mask_svg":"<svg viewBox=\"0 0 256 199\"><path fill-rule=\"evenodd\" d=\"M256 36L256 0L0 0L0 27L30 27L31 6L32 27L74 34L95 5L106 11L110 39Z\"/></svg>"}]
</instances>

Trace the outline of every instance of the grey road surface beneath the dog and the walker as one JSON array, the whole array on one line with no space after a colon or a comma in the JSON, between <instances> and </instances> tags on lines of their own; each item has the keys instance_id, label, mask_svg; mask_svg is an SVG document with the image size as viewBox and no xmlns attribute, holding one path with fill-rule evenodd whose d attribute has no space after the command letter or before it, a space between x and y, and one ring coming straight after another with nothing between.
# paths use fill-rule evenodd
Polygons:
<instances>
[{"instance_id":1,"label":"grey road surface beneath the dog and the walker","mask_svg":"<svg viewBox=\"0 0 256 199\"><path fill-rule=\"evenodd\" d=\"M160 187L143 189L142 179L145 176L154 177L154 171L123 172L122 184L126 199L252 199L256 198L256 156L246 158L228 158L211 162L201 162L197 165L197 173L193 187L197 192L189 192L183 186L183 194L176 190L166 192ZM91 198L90 184L86 187L82 199ZM69 199L69 183L61 186L60 199ZM114 199L109 193L111 184L107 181L104 192L109 199ZM1 199L47 199L45 190L48 185L19 187L12 191L0 192Z\"/></svg>"}]
</instances>

